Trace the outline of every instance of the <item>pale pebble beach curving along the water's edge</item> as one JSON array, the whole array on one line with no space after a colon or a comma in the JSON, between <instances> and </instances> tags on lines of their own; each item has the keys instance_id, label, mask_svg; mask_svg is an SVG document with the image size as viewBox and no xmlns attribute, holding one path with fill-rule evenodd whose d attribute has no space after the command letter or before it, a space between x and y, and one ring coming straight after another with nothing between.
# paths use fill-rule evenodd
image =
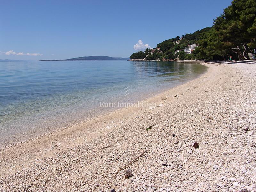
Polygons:
<instances>
[{"instance_id":1,"label":"pale pebble beach curving along the water's edge","mask_svg":"<svg viewBox=\"0 0 256 192\"><path fill-rule=\"evenodd\" d=\"M0 149L0 191L256 191L256 62Z\"/></svg>"}]
</instances>

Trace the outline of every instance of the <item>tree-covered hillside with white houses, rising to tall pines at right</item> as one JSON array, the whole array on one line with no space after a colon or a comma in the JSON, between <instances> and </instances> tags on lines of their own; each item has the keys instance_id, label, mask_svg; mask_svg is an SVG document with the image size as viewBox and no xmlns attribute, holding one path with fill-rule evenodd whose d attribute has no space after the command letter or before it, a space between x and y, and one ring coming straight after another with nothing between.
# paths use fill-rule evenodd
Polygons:
<instances>
[{"instance_id":1,"label":"tree-covered hillside with white houses, rising to tall pines at right","mask_svg":"<svg viewBox=\"0 0 256 192\"><path fill-rule=\"evenodd\" d=\"M130 59L228 60L232 56L245 60L250 53L255 55L255 48L256 0L233 0L212 27L165 40L156 48L147 48L145 54L133 53Z\"/></svg>"}]
</instances>

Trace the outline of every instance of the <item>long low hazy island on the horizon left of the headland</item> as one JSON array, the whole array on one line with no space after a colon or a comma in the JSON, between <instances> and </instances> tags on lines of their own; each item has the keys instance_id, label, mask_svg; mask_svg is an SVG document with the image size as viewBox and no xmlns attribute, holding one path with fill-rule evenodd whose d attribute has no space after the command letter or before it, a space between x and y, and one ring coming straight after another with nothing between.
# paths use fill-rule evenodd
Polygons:
<instances>
[{"instance_id":1,"label":"long low hazy island on the horizon left of the headland","mask_svg":"<svg viewBox=\"0 0 256 192\"><path fill-rule=\"evenodd\" d=\"M87 56L87 57L76 57L65 60L39 60L39 61L84 61L84 60L129 60L124 57L108 57L108 56Z\"/></svg>"}]
</instances>

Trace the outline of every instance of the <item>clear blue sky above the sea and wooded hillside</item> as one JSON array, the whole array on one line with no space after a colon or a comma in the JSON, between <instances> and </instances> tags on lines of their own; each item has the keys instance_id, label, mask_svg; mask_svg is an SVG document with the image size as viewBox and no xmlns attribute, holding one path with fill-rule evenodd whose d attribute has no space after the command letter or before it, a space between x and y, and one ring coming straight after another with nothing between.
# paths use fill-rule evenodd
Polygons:
<instances>
[{"instance_id":1,"label":"clear blue sky above the sea and wooded hillside","mask_svg":"<svg viewBox=\"0 0 256 192\"><path fill-rule=\"evenodd\" d=\"M1 1L0 59L129 57L212 26L231 0ZM35 54L37 53L37 54ZM40 55L39 55L40 54Z\"/></svg>"}]
</instances>

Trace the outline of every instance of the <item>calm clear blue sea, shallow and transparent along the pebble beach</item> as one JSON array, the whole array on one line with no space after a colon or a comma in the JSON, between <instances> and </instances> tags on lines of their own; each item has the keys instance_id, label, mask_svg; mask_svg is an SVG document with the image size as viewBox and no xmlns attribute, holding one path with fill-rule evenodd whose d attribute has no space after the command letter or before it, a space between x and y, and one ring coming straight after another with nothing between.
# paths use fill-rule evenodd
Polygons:
<instances>
[{"instance_id":1,"label":"calm clear blue sea, shallow and transparent along the pebble beach","mask_svg":"<svg viewBox=\"0 0 256 192\"><path fill-rule=\"evenodd\" d=\"M100 101L136 102L206 70L176 62L0 62L0 146L87 118Z\"/></svg>"}]
</instances>

